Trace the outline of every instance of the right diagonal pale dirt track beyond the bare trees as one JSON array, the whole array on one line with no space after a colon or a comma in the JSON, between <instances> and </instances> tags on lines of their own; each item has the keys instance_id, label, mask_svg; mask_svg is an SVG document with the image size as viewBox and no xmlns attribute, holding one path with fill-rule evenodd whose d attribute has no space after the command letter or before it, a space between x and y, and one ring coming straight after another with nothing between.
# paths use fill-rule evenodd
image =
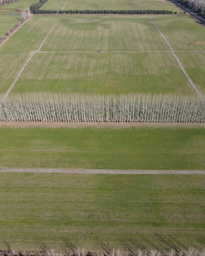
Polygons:
<instances>
[{"instance_id":1,"label":"right diagonal pale dirt track beyond the bare trees","mask_svg":"<svg viewBox=\"0 0 205 256\"><path fill-rule=\"evenodd\" d=\"M164 39L165 43L167 44L167 46L169 47L169 49L171 50L171 53L173 55L173 57L175 58L176 62L178 63L179 67L181 68L182 72L184 73L185 77L187 78L187 80L189 81L191 87L194 89L195 93L198 95L198 97L203 100L203 96L201 94L201 92L199 91L199 89L196 87L195 83L192 81L192 79L190 78L190 76L188 75L188 73L186 72L184 66L182 65L181 61L179 60L179 58L176 56L174 49L172 48L171 44L169 43L169 41L167 40L167 38L164 36L164 34L161 32L161 30L157 27L156 23L154 22L154 20L150 17L150 20L152 22L152 24L154 25L154 27L156 28L156 30L159 32L159 34L161 35L161 37Z\"/></svg>"}]
</instances>

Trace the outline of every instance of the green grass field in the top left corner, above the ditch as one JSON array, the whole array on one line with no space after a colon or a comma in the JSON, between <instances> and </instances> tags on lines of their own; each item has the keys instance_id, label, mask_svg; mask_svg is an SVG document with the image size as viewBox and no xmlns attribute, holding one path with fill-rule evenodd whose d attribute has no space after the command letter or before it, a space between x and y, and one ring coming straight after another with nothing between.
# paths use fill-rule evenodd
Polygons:
<instances>
[{"instance_id":1,"label":"green grass field in the top left corner, above the ditch","mask_svg":"<svg viewBox=\"0 0 205 256\"><path fill-rule=\"evenodd\" d=\"M21 14L27 10L30 5L36 3L36 0L19 0L18 2L0 6L0 14Z\"/></svg>"}]
</instances>

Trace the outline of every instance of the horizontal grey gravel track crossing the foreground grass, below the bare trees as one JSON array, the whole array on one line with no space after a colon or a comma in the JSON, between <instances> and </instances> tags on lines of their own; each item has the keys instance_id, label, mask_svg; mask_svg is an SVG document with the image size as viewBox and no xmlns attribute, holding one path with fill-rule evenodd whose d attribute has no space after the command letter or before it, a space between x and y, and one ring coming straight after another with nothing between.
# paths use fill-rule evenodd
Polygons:
<instances>
[{"instance_id":1,"label":"horizontal grey gravel track crossing the foreground grass, below the bare trees","mask_svg":"<svg viewBox=\"0 0 205 256\"><path fill-rule=\"evenodd\" d=\"M55 168L0 168L3 172L31 173L81 173L81 174L198 174L205 170L115 170L115 169L55 169Z\"/></svg>"}]
</instances>

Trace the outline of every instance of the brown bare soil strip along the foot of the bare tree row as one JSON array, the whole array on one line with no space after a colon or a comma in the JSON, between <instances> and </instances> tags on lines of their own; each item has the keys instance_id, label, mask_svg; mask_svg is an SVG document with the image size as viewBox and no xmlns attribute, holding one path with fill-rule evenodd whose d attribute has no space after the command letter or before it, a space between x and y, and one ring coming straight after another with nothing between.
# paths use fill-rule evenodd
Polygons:
<instances>
[{"instance_id":1,"label":"brown bare soil strip along the foot of the bare tree row","mask_svg":"<svg viewBox=\"0 0 205 256\"><path fill-rule=\"evenodd\" d=\"M121 129L121 128L138 128L138 127L149 127L149 128L205 128L205 124L163 124L163 123L0 123L1 127L11 127L11 128L30 128L30 127L46 127L46 128L112 128L112 129Z\"/></svg>"}]
</instances>

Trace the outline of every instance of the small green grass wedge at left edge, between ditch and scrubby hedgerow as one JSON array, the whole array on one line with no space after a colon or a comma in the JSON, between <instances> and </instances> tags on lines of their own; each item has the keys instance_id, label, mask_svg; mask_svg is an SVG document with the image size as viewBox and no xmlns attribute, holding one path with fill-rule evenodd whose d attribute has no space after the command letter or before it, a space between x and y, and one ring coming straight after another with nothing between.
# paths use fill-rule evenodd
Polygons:
<instances>
[{"instance_id":1,"label":"small green grass wedge at left edge, between ditch and scrubby hedgerow","mask_svg":"<svg viewBox=\"0 0 205 256\"><path fill-rule=\"evenodd\" d=\"M0 36L6 34L11 28L13 28L19 22L20 16L1 15L0 14Z\"/></svg>"}]
</instances>

